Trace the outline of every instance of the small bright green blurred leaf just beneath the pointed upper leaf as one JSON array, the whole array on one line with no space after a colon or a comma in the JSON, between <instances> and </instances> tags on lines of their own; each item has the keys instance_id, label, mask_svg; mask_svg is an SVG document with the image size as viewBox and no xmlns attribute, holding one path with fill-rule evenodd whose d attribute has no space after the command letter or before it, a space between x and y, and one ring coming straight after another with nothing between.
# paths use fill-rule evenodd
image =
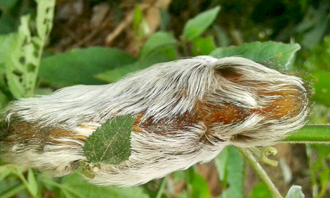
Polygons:
<instances>
[{"instance_id":1,"label":"small bright green blurred leaf just beneath the pointed upper leaf","mask_svg":"<svg viewBox=\"0 0 330 198\"><path fill-rule=\"evenodd\" d=\"M193 56L208 55L215 49L213 38L196 37L192 40L192 45Z\"/></svg>"}]
</instances>

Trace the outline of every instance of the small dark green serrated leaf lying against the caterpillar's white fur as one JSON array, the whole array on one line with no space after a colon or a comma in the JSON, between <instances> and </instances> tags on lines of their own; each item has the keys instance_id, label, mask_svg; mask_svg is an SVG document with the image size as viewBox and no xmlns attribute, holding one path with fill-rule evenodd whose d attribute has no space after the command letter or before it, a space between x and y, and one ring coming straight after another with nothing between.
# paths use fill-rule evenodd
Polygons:
<instances>
[{"instance_id":1,"label":"small dark green serrated leaf lying against the caterpillar's white fur","mask_svg":"<svg viewBox=\"0 0 330 198\"><path fill-rule=\"evenodd\" d=\"M130 115L108 120L88 137L84 154L91 162L119 164L130 156L130 131L135 118Z\"/></svg>"}]
</instances>

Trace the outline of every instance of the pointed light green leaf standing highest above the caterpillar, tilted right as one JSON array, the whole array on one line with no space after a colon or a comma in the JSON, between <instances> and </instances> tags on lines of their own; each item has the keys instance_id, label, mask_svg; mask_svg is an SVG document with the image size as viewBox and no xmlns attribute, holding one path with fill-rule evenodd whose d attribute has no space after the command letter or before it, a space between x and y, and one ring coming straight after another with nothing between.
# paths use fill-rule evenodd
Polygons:
<instances>
[{"instance_id":1,"label":"pointed light green leaf standing highest above the caterpillar, tilted right","mask_svg":"<svg viewBox=\"0 0 330 198\"><path fill-rule=\"evenodd\" d=\"M183 28L183 37L187 40L192 40L202 33L213 23L220 11L220 6L217 6L208 11L189 19Z\"/></svg>"}]
</instances>

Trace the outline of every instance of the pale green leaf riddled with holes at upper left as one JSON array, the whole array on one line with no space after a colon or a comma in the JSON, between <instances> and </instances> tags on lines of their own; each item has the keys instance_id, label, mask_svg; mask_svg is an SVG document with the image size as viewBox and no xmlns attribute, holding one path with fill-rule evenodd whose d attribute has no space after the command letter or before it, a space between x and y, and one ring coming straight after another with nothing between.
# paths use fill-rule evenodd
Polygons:
<instances>
[{"instance_id":1,"label":"pale green leaf riddled with holes at upper left","mask_svg":"<svg viewBox=\"0 0 330 198\"><path fill-rule=\"evenodd\" d=\"M55 0L37 1L37 35L31 36L30 17L21 17L15 39L11 40L5 58L8 87L15 97L34 94L40 58L52 28Z\"/></svg>"}]
</instances>

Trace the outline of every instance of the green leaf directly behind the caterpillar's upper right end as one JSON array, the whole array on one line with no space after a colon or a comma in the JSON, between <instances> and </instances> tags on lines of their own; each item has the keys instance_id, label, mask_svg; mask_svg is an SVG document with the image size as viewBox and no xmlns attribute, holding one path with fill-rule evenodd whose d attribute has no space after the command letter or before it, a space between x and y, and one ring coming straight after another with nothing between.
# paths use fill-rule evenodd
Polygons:
<instances>
[{"instance_id":1,"label":"green leaf directly behind the caterpillar's upper right end","mask_svg":"<svg viewBox=\"0 0 330 198\"><path fill-rule=\"evenodd\" d=\"M256 62L268 62L279 64L273 65L274 69L282 70L282 67L289 69L295 52L300 49L299 44L284 44L280 42L253 42L245 43L242 46L230 46L215 49L210 56L223 58L229 56L242 56ZM277 67L276 67L277 66Z\"/></svg>"}]
</instances>

